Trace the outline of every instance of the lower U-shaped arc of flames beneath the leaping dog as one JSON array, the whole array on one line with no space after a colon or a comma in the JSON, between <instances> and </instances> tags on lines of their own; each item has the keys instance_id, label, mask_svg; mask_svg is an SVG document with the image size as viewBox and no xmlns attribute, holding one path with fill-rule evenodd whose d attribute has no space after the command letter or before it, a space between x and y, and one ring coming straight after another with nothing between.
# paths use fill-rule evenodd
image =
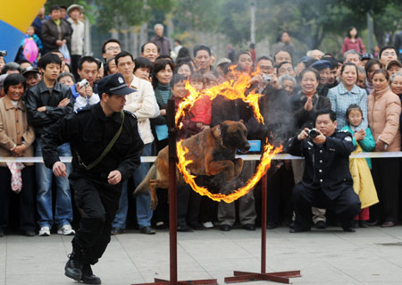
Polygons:
<instances>
[{"instance_id":1,"label":"lower U-shaped arc of flames beneath the leaping dog","mask_svg":"<svg viewBox=\"0 0 402 285\"><path fill-rule=\"evenodd\" d=\"M239 197L242 197L246 195L248 192L250 192L252 189L255 188L256 183L263 177L263 175L268 171L268 169L271 166L271 161L272 157L275 156L276 154L280 153L282 151L282 146L275 148L272 145L267 143L264 146L264 153L261 155L260 158L260 163L258 164L256 171L249 180L247 180L246 185L243 187L234 190L230 194L213 194L211 193L208 189L205 187L199 187L194 180L196 176L191 175L188 170L186 169L186 166L189 163L192 163L192 160L186 160L185 155L188 153L188 149L185 147L181 146L181 141L177 144L177 156L179 159L179 162L177 163L177 166L183 175L184 180L191 186L192 189L194 189L199 195L202 196L207 196L213 199L214 201L224 201L226 203L231 203Z\"/></svg>"}]
</instances>

